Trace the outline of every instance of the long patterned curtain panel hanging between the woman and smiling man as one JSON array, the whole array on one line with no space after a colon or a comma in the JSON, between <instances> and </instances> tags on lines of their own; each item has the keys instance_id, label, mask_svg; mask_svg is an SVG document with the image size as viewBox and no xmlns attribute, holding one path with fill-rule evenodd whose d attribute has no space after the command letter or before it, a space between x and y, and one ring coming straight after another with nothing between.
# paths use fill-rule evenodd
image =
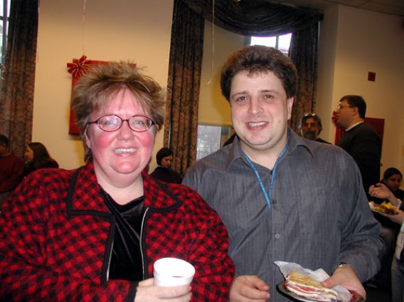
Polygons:
<instances>
[{"instance_id":1,"label":"long patterned curtain panel hanging between the woman and smiling man","mask_svg":"<svg viewBox=\"0 0 404 302\"><path fill-rule=\"evenodd\" d=\"M173 151L173 168L182 176L196 159L203 38L204 18L175 0L164 146Z\"/></svg>"}]
</instances>

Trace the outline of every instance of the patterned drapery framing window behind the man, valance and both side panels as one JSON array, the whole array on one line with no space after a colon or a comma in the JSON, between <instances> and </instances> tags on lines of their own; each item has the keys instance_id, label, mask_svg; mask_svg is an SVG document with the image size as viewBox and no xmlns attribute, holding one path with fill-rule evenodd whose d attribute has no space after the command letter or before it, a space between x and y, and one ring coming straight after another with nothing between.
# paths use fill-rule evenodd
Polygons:
<instances>
[{"instance_id":1,"label":"patterned drapery framing window behind the man, valance and both side panels","mask_svg":"<svg viewBox=\"0 0 404 302\"><path fill-rule=\"evenodd\" d=\"M191 73L187 76L194 80L194 84L197 82L197 77L199 82L202 45L193 43L196 40L201 41L204 33L203 29L193 30L200 28L201 24L203 26L200 16L228 31L246 36L275 36L288 32L293 33L290 57L297 65L300 82L290 125L294 130L297 130L301 115L306 111L315 109L318 25L323 18L323 14L317 10L293 8L288 5L270 3L266 0L175 0L169 71L169 99L171 100L177 99L175 93L170 94L172 87L182 91L182 94L185 94L185 91L190 89L187 86L177 86L181 83L177 81L177 77L184 78L184 76L182 73L176 75L176 71L180 69L190 71ZM189 19L184 21L186 17ZM200 34L201 37L198 38L195 34ZM175 51L175 54L173 54L173 51ZM187 69L186 66L182 65L181 60L178 60L178 58L193 57L193 64L192 62L187 62L193 69ZM173 58L178 61L171 62ZM172 65L173 67L171 67ZM164 144L172 147L176 156L180 156L180 159L176 158L174 167L180 170L182 174L195 161L196 145L193 142L196 141L197 132L196 126L192 128L180 126L182 119L178 119L180 124L173 127L172 113L173 111L189 113L191 117L187 121L192 119L193 122L198 122L195 121L198 116L198 88L191 86L191 89L190 97L184 97L182 100L189 102L187 108L190 108L189 106L194 108L195 111L192 113L183 111L184 109L180 106L173 108L176 106L175 103L170 102L170 100L167 102ZM184 106L183 103L181 104ZM191 130L191 132L183 132L186 130ZM192 143L188 143L189 141L186 140L181 141L177 137L192 137ZM182 148L187 152L184 153Z\"/></svg>"}]
</instances>

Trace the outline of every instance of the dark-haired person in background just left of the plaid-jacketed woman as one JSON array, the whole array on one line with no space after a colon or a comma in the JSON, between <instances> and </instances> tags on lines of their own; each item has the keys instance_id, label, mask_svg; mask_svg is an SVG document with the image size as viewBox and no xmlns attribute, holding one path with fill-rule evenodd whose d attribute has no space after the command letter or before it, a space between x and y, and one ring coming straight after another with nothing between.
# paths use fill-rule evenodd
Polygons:
<instances>
[{"instance_id":1,"label":"dark-haired person in background just left of the plaid-jacketed woman","mask_svg":"<svg viewBox=\"0 0 404 302\"><path fill-rule=\"evenodd\" d=\"M59 163L52 159L46 147L43 146L43 143L28 143L27 149L25 150L24 176L45 167L58 168Z\"/></svg>"}]
</instances>

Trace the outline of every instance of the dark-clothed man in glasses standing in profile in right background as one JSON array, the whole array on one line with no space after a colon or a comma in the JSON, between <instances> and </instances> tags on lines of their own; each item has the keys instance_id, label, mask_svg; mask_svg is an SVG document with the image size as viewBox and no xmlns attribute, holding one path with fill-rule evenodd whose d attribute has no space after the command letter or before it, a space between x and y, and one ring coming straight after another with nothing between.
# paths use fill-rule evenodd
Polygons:
<instances>
[{"instance_id":1,"label":"dark-clothed man in glasses standing in profile in right background","mask_svg":"<svg viewBox=\"0 0 404 302\"><path fill-rule=\"evenodd\" d=\"M337 146L343 148L357 162L363 188L380 181L381 139L372 125L365 122L366 103L359 95L341 97L337 110L337 123L345 134Z\"/></svg>"}]
</instances>

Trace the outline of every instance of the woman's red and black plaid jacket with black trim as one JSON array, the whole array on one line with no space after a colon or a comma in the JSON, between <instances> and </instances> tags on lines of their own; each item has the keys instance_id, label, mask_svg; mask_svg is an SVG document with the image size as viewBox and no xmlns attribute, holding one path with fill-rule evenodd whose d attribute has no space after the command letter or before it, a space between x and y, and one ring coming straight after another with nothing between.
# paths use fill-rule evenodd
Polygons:
<instances>
[{"instance_id":1,"label":"woman's red and black plaid jacket with black trim","mask_svg":"<svg viewBox=\"0 0 404 302\"><path fill-rule=\"evenodd\" d=\"M193 301L226 301L234 266L219 216L192 189L142 176L145 279L178 257L195 266ZM136 283L108 279L115 230L92 163L33 172L0 215L0 301L134 301Z\"/></svg>"}]
</instances>

